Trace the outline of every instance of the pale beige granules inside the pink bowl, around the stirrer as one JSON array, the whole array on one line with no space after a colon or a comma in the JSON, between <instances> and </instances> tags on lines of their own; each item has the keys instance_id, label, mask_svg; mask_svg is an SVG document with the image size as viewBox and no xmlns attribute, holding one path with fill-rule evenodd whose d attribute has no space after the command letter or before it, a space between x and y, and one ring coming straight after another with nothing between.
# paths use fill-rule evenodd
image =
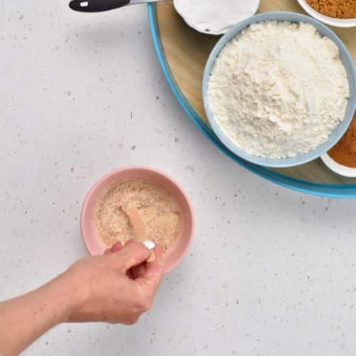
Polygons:
<instances>
[{"instance_id":1,"label":"pale beige granules inside the pink bowl, around the stirrer","mask_svg":"<svg viewBox=\"0 0 356 356\"><path fill-rule=\"evenodd\" d=\"M138 239L125 212L128 206L135 207L140 214L147 227L147 238L167 251L179 234L177 203L160 184L141 178L118 183L99 202L95 224L105 245Z\"/></svg>"}]
</instances>

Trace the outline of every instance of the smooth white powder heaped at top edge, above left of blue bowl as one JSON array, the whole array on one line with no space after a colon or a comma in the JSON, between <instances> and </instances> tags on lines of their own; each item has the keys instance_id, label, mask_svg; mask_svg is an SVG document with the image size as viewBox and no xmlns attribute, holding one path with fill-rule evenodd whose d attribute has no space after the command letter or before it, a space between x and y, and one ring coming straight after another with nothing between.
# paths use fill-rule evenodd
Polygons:
<instances>
[{"instance_id":1,"label":"smooth white powder heaped at top edge, above left of blue bowl","mask_svg":"<svg viewBox=\"0 0 356 356\"><path fill-rule=\"evenodd\" d=\"M189 25L209 33L226 32L255 14L258 4L258 0L174 0L174 7Z\"/></svg>"}]
</instances>

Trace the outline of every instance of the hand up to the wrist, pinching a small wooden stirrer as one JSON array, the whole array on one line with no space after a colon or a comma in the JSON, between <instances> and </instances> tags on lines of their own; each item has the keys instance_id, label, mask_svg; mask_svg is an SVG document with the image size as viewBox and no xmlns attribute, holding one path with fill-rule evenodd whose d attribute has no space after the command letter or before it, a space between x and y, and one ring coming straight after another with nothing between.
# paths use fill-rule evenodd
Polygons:
<instances>
[{"instance_id":1,"label":"hand up to the wrist, pinching a small wooden stirrer","mask_svg":"<svg viewBox=\"0 0 356 356\"><path fill-rule=\"evenodd\" d=\"M115 244L103 256L84 258L62 277L70 283L77 300L68 315L70 322L105 321L132 325L152 306L163 277L163 257L139 242Z\"/></svg>"}]
</instances>

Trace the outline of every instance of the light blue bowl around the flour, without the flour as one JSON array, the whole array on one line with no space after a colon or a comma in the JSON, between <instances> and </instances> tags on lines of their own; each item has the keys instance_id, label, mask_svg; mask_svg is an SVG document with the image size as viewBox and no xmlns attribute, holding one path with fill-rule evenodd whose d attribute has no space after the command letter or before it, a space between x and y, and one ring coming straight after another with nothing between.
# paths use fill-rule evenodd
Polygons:
<instances>
[{"instance_id":1,"label":"light blue bowl around the flour, without the flour","mask_svg":"<svg viewBox=\"0 0 356 356\"><path fill-rule=\"evenodd\" d=\"M214 66L216 58L219 56L219 53L222 48L231 41L236 35L238 35L244 28L251 25L251 23L261 22L261 21L290 21L290 22L307 22L311 23L317 31L320 33L321 36L327 36L330 38L339 48L340 51L340 58L342 64L345 66L347 72L347 79L350 85L350 99L347 103L347 108L345 112L345 117L340 125L335 127L335 130L331 133L328 140L325 141L322 145L319 145L314 150L303 153L300 155L296 155L295 157L290 158L280 158L280 159L272 159L272 158L265 158L265 157L258 157L255 155L250 155L244 150L232 142L229 137L227 137L224 132L219 127L219 123L216 121L213 113L209 108L209 100L207 99L207 90L208 90L208 82L209 76L211 73L211 69ZM256 48L258 51L258 48ZM216 46L214 47L213 51L211 51L208 61L206 62L205 70L204 70L204 77L203 77L203 100L204 100L204 108L206 111L206 116L210 122L212 129L214 130L219 140L231 151L234 152L235 155L245 159L248 162L259 164L265 167L293 167L298 166L299 164L303 164L306 162L310 162L315 158L324 155L325 152L330 150L337 141L340 140L342 135L344 135L347 127L349 127L352 117L354 115L356 109L356 72L354 68L354 64L350 53L347 51L344 43L336 36L336 34L330 30L327 26L323 25L319 21L302 15L297 14L295 12L287 12L287 11L276 11L276 12L266 12L264 14L259 14L256 16L252 16L244 21L239 22L236 26L230 29L228 33L222 36Z\"/></svg>"}]
</instances>

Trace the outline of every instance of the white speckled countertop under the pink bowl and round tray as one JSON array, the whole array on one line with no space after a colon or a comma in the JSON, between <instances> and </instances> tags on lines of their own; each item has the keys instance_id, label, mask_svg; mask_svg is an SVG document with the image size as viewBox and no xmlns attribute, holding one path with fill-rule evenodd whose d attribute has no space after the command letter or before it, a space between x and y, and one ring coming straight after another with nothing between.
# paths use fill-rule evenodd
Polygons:
<instances>
[{"instance_id":1,"label":"white speckled countertop under the pink bowl and round tray","mask_svg":"<svg viewBox=\"0 0 356 356\"><path fill-rule=\"evenodd\" d=\"M197 218L138 325L61 325L24 355L356 355L356 201L283 189L213 147L164 81L145 6L0 0L0 48L0 299L85 256L80 204L111 169L163 169Z\"/></svg>"}]
</instances>

